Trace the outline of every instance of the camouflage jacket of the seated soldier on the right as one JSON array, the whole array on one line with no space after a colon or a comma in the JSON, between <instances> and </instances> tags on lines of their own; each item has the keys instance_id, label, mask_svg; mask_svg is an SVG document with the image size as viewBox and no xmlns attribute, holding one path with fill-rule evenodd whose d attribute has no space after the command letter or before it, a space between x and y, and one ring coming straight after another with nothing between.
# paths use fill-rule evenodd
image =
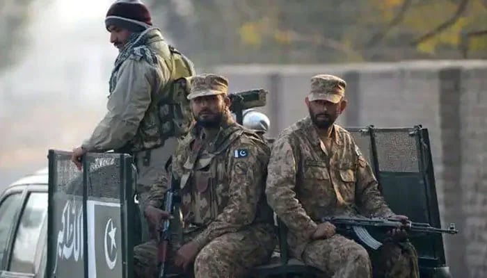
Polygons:
<instances>
[{"instance_id":1,"label":"camouflage jacket of the seated soldier on the right","mask_svg":"<svg viewBox=\"0 0 487 278\"><path fill-rule=\"evenodd\" d=\"M351 134L333 126L328 154L310 117L290 126L273 142L266 196L289 228L296 256L325 215L393 215Z\"/></svg>"}]
</instances>

